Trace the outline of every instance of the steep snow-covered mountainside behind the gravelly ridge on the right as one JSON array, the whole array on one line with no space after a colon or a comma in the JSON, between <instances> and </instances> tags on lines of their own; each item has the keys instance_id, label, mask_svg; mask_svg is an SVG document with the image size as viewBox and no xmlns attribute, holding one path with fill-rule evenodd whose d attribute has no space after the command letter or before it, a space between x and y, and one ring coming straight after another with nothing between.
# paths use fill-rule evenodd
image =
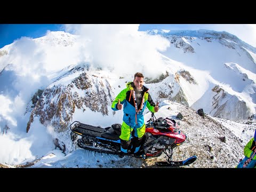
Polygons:
<instances>
[{"instance_id":1,"label":"steep snow-covered mountainside behind the gravelly ridge on the right","mask_svg":"<svg viewBox=\"0 0 256 192\"><path fill-rule=\"evenodd\" d=\"M172 59L169 65L170 68L174 67L173 73L188 71L194 81L194 85L191 82L188 84L187 77L181 76L185 81L174 82L180 87L177 95L183 95L182 98L185 99L180 102L172 95L173 101L186 103L186 106L195 110L204 108L211 116L221 116L233 121L247 119L255 113L254 47L225 31L182 30L166 33L155 30L151 34L161 34L171 42L171 46L162 54L165 55L165 60ZM209 74L205 75L205 72ZM201 76L207 79L202 79ZM193 89L187 89L188 86ZM221 97L214 93L216 86L225 92ZM230 98L233 98L232 102L228 101ZM229 102L228 105L226 101ZM238 109L239 107L242 108Z\"/></svg>"}]
</instances>

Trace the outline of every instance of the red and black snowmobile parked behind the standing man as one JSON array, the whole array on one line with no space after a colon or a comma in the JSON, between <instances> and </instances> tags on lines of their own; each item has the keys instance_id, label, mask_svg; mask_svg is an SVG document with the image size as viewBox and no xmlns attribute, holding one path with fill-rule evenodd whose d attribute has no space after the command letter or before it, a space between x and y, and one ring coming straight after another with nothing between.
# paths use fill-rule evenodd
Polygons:
<instances>
[{"instance_id":1,"label":"red and black snowmobile parked behind the standing man","mask_svg":"<svg viewBox=\"0 0 256 192\"><path fill-rule=\"evenodd\" d=\"M77 146L80 148L115 155L121 151L119 139L121 124L103 128L75 121L69 127L72 141L76 140ZM78 137L78 135L82 137ZM134 137L133 132L132 137ZM152 112L151 118L146 122L146 133L142 138L140 150L136 154L140 154L139 157L146 159L165 153L167 162L157 162L158 166L188 165L196 161L197 157L191 156L184 161L172 161L173 148L185 140L186 135L180 131L178 123L174 119L156 118ZM132 149L129 149L127 155L133 155Z\"/></svg>"}]
</instances>

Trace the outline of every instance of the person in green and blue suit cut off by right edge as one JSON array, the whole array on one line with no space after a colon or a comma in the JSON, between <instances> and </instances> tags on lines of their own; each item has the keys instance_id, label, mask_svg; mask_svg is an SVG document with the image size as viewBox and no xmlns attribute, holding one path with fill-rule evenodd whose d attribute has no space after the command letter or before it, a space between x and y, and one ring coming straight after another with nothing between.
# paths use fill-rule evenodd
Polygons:
<instances>
[{"instance_id":1,"label":"person in green and blue suit cut off by right edge","mask_svg":"<svg viewBox=\"0 0 256 192\"><path fill-rule=\"evenodd\" d=\"M244 147L244 159L236 166L236 168L256 168L256 130L254 137Z\"/></svg>"}]
</instances>

